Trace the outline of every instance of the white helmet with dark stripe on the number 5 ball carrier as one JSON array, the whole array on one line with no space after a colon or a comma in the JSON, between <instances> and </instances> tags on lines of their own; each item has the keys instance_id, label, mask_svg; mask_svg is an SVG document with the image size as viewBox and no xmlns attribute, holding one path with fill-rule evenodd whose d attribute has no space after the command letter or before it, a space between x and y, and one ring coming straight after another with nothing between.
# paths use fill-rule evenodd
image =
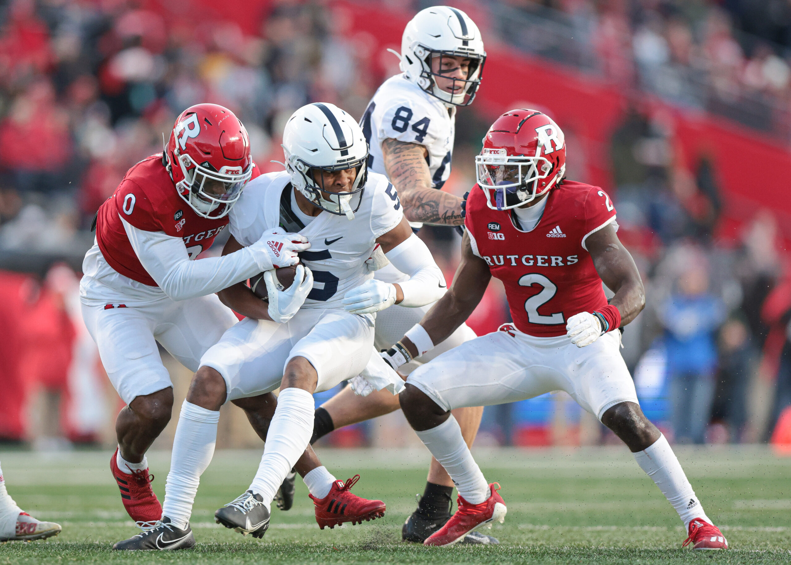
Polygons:
<instances>
[{"instance_id":1,"label":"white helmet with dark stripe on the number 5 ball carrier","mask_svg":"<svg viewBox=\"0 0 791 565\"><path fill-rule=\"evenodd\" d=\"M354 219L368 176L368 142L357 121L335 104L307 104L286 123L282 147L294 188L322 210ZM325 188L323 176L314 173L344 169L357 169L352 190L348 192ZM355 197L357 206L352 207Z\"/></svg>"}]
</instances>

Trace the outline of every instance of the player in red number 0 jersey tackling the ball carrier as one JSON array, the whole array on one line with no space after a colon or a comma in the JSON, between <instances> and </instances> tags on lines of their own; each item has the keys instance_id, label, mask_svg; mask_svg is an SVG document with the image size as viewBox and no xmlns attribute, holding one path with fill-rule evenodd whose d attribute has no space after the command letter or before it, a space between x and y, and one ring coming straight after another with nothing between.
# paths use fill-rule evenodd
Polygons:
<instances>
[{"instance_id":1,"label":"player in red number 0 jersey tackling the ball carrier","mask_svg":"<svg viewBox=\"0 0 791 565\"><path fill-rule=\"evenodd\" d=\"M254 171L237 116L217 104L197 104L176 119L164 153L129 169L97 212L96 241L82 264L82 317L127 404L115 421L119 447L110 466L135 521L157 521L162 513L146 450L170 419L173 389L157 342L198 370L201 356L237 322L214 293L295 264L297 252L309 247L305 237L274 229L255 245L193 261L228 225L228 212ZM271 400L237 405L256 422L271 417Z\"/></svg>"}]
</instances>

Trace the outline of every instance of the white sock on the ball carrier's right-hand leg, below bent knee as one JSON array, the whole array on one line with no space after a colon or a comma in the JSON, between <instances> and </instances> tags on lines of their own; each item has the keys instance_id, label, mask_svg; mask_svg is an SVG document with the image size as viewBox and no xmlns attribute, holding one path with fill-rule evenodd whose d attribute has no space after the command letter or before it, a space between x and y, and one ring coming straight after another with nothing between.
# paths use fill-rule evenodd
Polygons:
<instances>
[{"instance_id":1,"label":"white sock on the ball carrier's right-hand leg, below bent knee","mask_svg":"<svg viewBox=\"0 0 791 565\"><path fill-rule=\"evenodd\" d=\"M306 390L289 388L278 396L278 408L269 424L261 464L250 483L250 490L263 497L267 508L310 443L315 410L313 396Z\"/></svg>"}]
</instances>

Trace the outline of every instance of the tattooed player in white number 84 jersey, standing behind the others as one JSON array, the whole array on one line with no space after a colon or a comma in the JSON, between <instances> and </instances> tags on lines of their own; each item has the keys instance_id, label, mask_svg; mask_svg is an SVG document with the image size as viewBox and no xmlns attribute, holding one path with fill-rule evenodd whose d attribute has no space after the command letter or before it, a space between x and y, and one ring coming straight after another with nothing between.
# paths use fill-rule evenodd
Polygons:
<instances>
[{"instance_id":1,"label":"tattooed player in white number 84 jersey, standing behind the others","mask_svg":"<svg viewBox=\"0 0 791 565\"><path fill-rule=\"evenodd\" d=\"M374 94L360 121L369 142L369 169L382 173L398 189L403 213L417 230L423 223L461 226L462 199L443 192L448 180L456 127L456 107L475 98L486 52L478 27L460 9L433 6L419 12L404 29L401 40L402 74L388 78ZM384 282L407 277L392 265L374 275ZM376 347L384 350L417 324L432 305L418 309L400 306L377 317ZM475 338L467 324L445 339L437 350L400 368L406 376L441 352ZM316 410L313 441L335 428L361 422L399 409L398 398L387 391L354 396L350 388ZM483 408L454 412L470 444ZM282 491L288 491L287 484ZM403 539L422 542L450 518L453 483L445 469L431 462L426 489L418 509L403 526ZM284 493L285 494L285 493ZM494 538L472 533L467 543L493 543Z\"/></svg>"}]
</instances>

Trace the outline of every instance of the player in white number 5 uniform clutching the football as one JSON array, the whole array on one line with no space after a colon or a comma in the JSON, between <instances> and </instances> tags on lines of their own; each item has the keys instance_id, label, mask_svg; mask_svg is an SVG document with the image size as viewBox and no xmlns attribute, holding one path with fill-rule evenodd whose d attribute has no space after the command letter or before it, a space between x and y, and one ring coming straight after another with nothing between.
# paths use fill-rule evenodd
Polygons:
<instances>
[{"instance_id":1,"label":"player in white number 5 uniform clutching the football","mask_svg":"<svg viewBox=\"0 0 791 565\"><path fill-rule=\"evenodd\" d=\"M365 137L346 112L333 104L300 108L286 124L283 149L286 171L253 180L231 210L232 237L224 252L251 245L278 226L298 229L311 250L301 253L302 264L286 290L278 290L274 271L264 273L268 305L244 284L220 293L225 304L248 317L201 359L181 408L161 521L115 548L194 545L192 503L214 453L221 405L278 387L258 472L249 490L215 518L237 532L262 537L275 493L297 461L306 459L312 461L297 465L297 471L322 528L384 515L383 502L350 493L359 476L346 483L335 480L309 449L312 392L370 371L369 363L388 375L380 375L387 382L375 388L402 389L399 375L373 348L376 313L395 303L418 308L436 301L445 293L445 279L412 233L393 185L383 175L368 173ZM407 274L405 279L395 284L373 279L366 261L377 245Z\"/></svg>"}]
</instances>

